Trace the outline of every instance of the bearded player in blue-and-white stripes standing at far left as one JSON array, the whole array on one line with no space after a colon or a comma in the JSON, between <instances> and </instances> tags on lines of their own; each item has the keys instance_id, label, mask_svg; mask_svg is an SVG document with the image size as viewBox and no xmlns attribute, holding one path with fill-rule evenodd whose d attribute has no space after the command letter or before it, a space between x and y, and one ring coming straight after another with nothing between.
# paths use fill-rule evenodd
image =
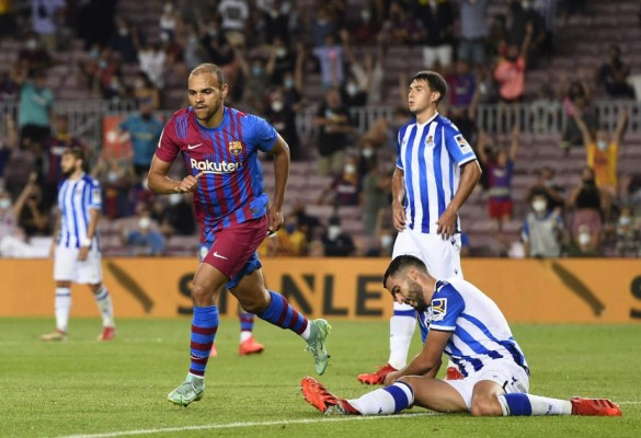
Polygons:
<instances>
[{"instance_id":1,"label":"bearded player in blue-and-white stripes standing at far left","mask_svg":"<svg viewBox=\"0 0 641 438\"><path fill-rule=\"evenodd\" d=\"M71 283L87 284L95 297L103 330L99 341L116 334L114 309L102 284L98 222L102 209L100 184L83 171L84 152L75 147L62 152L60 166L67 176L58 188L58 221L54 232L54 279L56 280L56 331L42 341L66 341L71 310Z\"/></svg>"}]
</instances>

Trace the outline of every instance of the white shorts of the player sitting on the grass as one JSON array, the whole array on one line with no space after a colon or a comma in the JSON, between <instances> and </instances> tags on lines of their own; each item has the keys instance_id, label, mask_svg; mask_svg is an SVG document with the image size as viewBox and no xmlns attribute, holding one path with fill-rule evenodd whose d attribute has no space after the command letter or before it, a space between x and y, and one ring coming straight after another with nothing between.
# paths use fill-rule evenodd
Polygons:
<instances>
[{"instance_id":1,"label":"white shorts of the player sitting on the grass","mask_svg":"<svg viewBox=\"0 0 641 438\"><path fill-rule=\"evenodd\" d=\"M472 407L474 385L481 380L495 382L503 388L506 394L527 393L529 391L529 376L523 367L512 360L495 360L463 380L444 380L444 382L460 394L469 411Z\"/></svg>"}]
</instances>

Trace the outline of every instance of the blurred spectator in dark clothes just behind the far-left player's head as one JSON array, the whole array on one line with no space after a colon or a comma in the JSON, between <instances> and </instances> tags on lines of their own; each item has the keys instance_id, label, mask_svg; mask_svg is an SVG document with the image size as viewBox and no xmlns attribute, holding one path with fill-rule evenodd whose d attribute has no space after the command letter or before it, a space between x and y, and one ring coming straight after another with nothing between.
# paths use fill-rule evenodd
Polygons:
<instances>
[{"instance_id":1,"label":"blurred spectator in dark clothes just behind the far-left player's head","mask_svg":"<svg viewBox=\"0 0 641 438\"><path fill-rule=\"evenodd\" d=\"M58 197L58 184L65 180L60 161L62 152L67 148L80 148L87 151L85 145L69 132L69 120L67 115L56 114L54 116L54 134L43 141L42 154L42 182L43 204L50 208Z\"/></svg>"}]
</instances>

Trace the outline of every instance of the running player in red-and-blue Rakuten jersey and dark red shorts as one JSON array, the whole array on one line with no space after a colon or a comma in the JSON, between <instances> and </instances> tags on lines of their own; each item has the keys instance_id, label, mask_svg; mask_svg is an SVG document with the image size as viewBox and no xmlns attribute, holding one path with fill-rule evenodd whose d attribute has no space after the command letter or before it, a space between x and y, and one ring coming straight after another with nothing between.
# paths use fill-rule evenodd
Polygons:
<instances>
[{"instance_id":1,"label":"running player in red-and-blue Rakuten jersey and dark red shorts","mask_svg":"<svg viewBox=\"0 0 641 438\"><path fill-rule=\"evenodd\" d=\"M329 355L325 320L309 321L285 297L267 290L256 250L283 223L283 200L289 176L289 147L264 119L225 106L228 87L218 66L203 64L190 73L190 107L174 113L164 126L149 170L149 187L161 194L194 194L201 242L207 254L192 286L191 366L185 381L168 400L183 406L205 392L205 369L218 330L216 298L227 287L242 308L288 328L307 341L316 371L322 374ZM270 203L263 192L257 151L274 155L275 188ZM188 175L168 177L181 153Z\"/></svg>"}]
</instances>

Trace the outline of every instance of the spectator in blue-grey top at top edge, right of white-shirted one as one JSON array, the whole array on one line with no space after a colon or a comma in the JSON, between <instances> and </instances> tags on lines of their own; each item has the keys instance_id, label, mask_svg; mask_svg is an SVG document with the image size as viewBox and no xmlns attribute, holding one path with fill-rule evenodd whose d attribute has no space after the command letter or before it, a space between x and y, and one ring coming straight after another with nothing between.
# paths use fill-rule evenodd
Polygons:
<instances>
[{"instance_id":1,"label":"spectator in blue-grey top at top edge, right of white-shirted one","mask_svg":"<svg viewBox=\"0 0 641 438\"><path fill-rule=\"evenodd\" d=\"M458 58L471 65L485 62L488 4L490 0L457 0L460 10Z\"/></svg>"}]
</instances>

